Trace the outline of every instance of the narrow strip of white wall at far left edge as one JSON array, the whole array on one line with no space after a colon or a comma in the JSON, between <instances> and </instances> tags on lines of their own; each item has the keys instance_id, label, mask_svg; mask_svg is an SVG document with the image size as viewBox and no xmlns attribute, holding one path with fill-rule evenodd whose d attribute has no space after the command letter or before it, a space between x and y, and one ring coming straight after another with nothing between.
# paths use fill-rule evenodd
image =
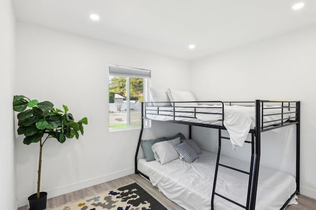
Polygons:
<instances>
[{"instance_id":1,"label":"narrow strip of white wall at far left edge","mask_svg":"<svg viewBox=\"0 0 316 210\"><path fill-rule=\"evenodd\" d=\"M0 1L0 204L13 210L16 205L13 138L13 82L15 18L11 0Z\"/></svg>"}]
</instances>

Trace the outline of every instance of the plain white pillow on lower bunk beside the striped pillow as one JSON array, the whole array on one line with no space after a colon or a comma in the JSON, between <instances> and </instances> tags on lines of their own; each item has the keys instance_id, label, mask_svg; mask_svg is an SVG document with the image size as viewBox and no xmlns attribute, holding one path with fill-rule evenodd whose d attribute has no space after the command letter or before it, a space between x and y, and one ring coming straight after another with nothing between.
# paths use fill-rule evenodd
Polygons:
<instances>
[{"instance_id":1,"label":"plain white pillow on lower bunk beside the striped pillow","mask_svg":"<svg viewBox=\"0 0 316 210\"><path fill-rule=\"evenodd\" d=\"M155 143L152 146L155 159L159 161L161 165L178 159L179 153L174 147L180 143L180 137L174 140L166 140Z\"/></svg>"}]
</instances>

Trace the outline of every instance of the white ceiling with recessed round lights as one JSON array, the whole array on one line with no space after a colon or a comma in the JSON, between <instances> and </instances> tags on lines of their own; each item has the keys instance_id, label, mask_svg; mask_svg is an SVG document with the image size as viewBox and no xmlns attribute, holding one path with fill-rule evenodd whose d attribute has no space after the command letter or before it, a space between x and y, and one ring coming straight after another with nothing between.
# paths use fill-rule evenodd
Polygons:
<instances>
[{"instance_id":1,"label":"white ceiling with recessed round lights","mask_svg":"<svg viewBox=\"0 0 316 210\"><path fill-rule=\"evenodd\" d=\"M297 1L305 7L293 11ZM185 60L316 24L316 0L14 0L14 9L21 22Z\"/></svg>"}]
</instances>

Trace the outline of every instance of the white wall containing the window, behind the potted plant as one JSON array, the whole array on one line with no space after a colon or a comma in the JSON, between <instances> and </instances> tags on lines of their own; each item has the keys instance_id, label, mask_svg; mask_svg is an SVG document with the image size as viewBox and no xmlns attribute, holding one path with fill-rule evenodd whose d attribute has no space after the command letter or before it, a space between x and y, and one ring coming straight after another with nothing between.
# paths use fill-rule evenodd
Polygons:
<instances>
[{"instance_id":1,"label":"white wall containing the window, behind the potted plant","mask_svg":"<svg viewBox=\"0 0 316 210\"><path fill-rule=\"evenodd\" d=\"M152 87L186 90L189 63L22 23L16 36L14 94L68 105L75 118L89 121L79 140L45 143L41 190L54 197L134 173L140 129L109 133L109 64L152 70ZM154 122L152 127L145 129L144 139L188 135L187 126ZM36 192L39 155L38 144L22 140L17 138L15 150L19 206Z\"/></svg>"}]
</instances>

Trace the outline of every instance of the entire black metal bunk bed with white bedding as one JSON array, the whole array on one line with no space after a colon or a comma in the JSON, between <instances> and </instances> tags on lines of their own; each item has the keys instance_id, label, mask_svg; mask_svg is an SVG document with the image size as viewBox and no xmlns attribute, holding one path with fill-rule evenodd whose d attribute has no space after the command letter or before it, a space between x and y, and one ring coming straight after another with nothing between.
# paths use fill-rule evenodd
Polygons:
<instances>
[{"instance_id":1,"label":"entire black metal bunk bed with white bedding","mask_svg":"<svg viewBox=\"0 0 316 210\"><path fill-rule=\"evenodd\" d=\"M270 203L273 198L280 197L280 200L276 201L276 203L279 205L279 202L282 201L283 206L281 206L280 209L285 209L295 195L299 194L299 101L203 101L171 102L171 105L172 106L167 106L165 105L165 102L142 103L142 125L135 154L135 173L150 179L154 185L158 186L160 191L169 197L169 199L171 198L171 200L183 207L186 207L186 205L181 203L181 199L191 199L200 203L204 201L207 206L200 206L202 209L214 210L214 208L227 209L229 207L230 209L255 210L255 207L257 207L257 209L267 209L266 207L269 207L270 204L274 205L273 203ZM191 139L192 126L218 129L217 155L203 151L200 158L193 164L183 165L186 163L178 159L172 161L172 163L170 162L169 166L171 167L169 169L164 167L164 165L160 165L157 161L146 162L143 159L138 160L144 121L147 119L189 125L189 139ZM238 121L236 121L236 119L238 119ZM261 173L259 178L261 133L290 125L296 126L296 177L294 178L291 175L260 167ZM222 130L227 130L230 137L222 136ZM248 134L251 135L251 140L246 140ZM240 161L236 162L232 160L232 158L221 156L222 140L231 140L234 149L237 149L238 146L242 146L243 143L250 143L250 163L240 163ZM179 177L168 177L168 175L173 174L170 170L175 169L177 165L183 165L183 169L191 167L193 168L193 171L201 170L201 176L204 177L203 181L205 181L205 183L198 183L197 180L201 179L198 175L186 174L188 170L179 171L179 174L184 175L186 178L182 177L181 179L180 177L179 179ZM225 171L224 174L221 173L222 171ZM228 171L230 172L226 173ZM164 174L162 172L164 172ZM211 174L208 176L206 175L207 173ZM224 178L222 178L222 175ZM157 176L156 179L152 178L155 176ZM192 180L190 181L189 177L196 178L195 183L192 183ZM187 182L181 182L184 179ZM158 183L154 183L158 182L158 180L165 180L165 183L162 183L159 186ZM244 183L244 187L241 187L241 191L245 191L246 194L244 199L239 199L238 195L241 191L238 187L225 185L225 181L227 180L232 180L232 182L235 183ZM258 182L264 183L262 185L266 186L258 189ZM267 183L269 183L270 186ZM189 188L190 185L192 185L191 188ZM222 185L225 186L222 187ZM168 187L170 188L170 186L179 192L183 192L184 197L180 200L174 198L172 193L168 192L166 189ZM274 191L278 192L274 194ZM176 194L176 192L173 193ZM190 198L191 195L193 195L192 198Z\"/></svg>"}]
</instances>

